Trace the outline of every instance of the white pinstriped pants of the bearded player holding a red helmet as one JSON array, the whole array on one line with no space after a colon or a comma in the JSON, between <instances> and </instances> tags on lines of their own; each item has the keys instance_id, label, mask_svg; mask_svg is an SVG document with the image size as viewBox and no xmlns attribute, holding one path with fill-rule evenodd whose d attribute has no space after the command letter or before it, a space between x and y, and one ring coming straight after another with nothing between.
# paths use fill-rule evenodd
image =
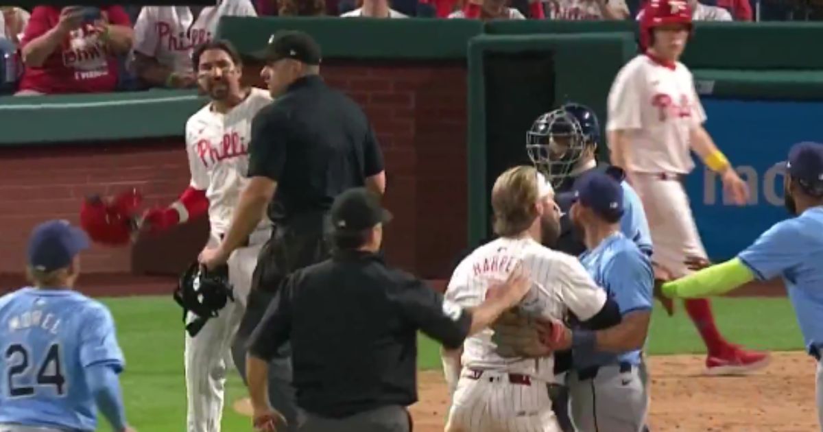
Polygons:
<instances>
[{"instance_id":1,"label":"white pinstriped pants of the bearded player holding a red helmet","mask_svg":"<svg viewBox=\"0 0 823 432\"><path fill-rule=\"evenodd\" d=\"M237 249L231 254L229 281L234 286L235 301L229 301L219 316L209 319L197 336L190 337L188 332L184 332L188 432L221 430L226 370L234 365L231 342L243 318L258 253L270 236L270 230L257 230L249 237L249 247ZM219 241L212 235L209 244ZM193 318L193 314L189 314L189 319Z\"/></svg>"}]
</instances>

